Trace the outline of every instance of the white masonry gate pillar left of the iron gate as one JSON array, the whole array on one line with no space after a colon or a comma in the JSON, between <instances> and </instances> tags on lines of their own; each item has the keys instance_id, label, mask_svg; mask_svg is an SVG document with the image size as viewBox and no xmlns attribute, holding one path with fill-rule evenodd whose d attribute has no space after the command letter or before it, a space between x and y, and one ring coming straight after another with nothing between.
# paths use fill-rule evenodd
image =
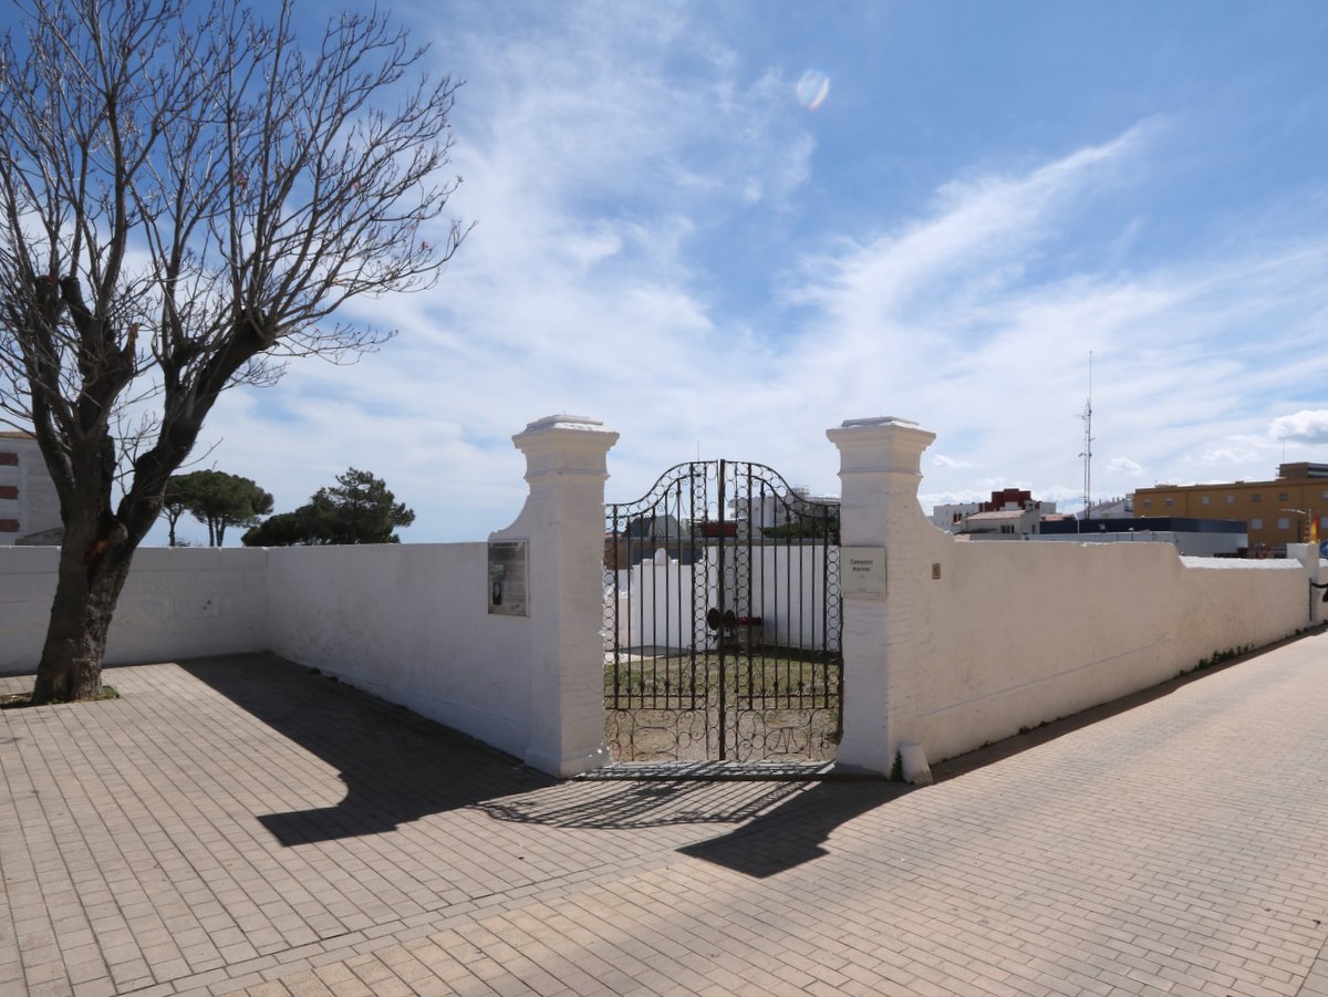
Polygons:
<instances>
[{"instance_id":1,"label":"white masonry gate pillar left of the iron gate","mask_svg":"<svg viewBox=\"0 0 1328 997\"><path fill-rule=\"evenodd\" d=\"M513 437L530 495L493 539L529 542L530 743L534 769L570 777L611 761L604 747L604 481L618 433L550 416Z\"/></svg>"}]
</instances>

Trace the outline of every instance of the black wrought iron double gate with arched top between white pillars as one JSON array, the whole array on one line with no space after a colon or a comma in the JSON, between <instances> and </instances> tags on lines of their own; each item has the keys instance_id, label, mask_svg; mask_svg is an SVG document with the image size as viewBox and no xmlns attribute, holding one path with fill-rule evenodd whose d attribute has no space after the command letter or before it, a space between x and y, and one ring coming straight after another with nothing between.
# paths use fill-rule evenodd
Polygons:
<instances>
[{"instance_id":1,"label":"black wrought iron double gate with arched top between white pillars","mask_svg":"<svg viewBox=\"0 0 1328 997\"><path fill-rule=\"evenodd\" d=\"M696 461L606 508L618 761L826 761L842 730L839 506Z\"/></svg>"}]
</instances>

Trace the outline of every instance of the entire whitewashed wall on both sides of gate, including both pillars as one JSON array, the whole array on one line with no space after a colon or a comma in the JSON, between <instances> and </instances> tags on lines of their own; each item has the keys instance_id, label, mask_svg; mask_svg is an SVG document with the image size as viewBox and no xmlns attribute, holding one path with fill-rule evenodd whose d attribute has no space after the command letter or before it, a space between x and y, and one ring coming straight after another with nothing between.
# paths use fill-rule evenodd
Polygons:
<instances>
[{"instance_id":1,"label":"entire whitewashed wall on both sides of gate, including both pillars","mask_svg":"<svg viewBox=\"0 0 1328 997\"><path fill-rule=\"evenodd\" d=\"M1308 597L1309 577L1328 576L1308 547L1301 563L1179 558L1169 544L956 542L918 506L930 433L869 420L831 438L845 544L882 548L887 577L883 599L845 599L847 763L890 771L902 742L954 755L1276 641L1328 609ZM514 439L531 493L493 539L529 543L529 617L487 613L483 543L145 548L108 661L275 651L543 771L603 763L603 485L616 434L552 417ZM797 567L757 563L757 576L819 577L806 551ZM0 547L0 670L36 665L57 555ZM761 612L790 633L813 625L788 607Z\"/></svg>"}]
</instances>

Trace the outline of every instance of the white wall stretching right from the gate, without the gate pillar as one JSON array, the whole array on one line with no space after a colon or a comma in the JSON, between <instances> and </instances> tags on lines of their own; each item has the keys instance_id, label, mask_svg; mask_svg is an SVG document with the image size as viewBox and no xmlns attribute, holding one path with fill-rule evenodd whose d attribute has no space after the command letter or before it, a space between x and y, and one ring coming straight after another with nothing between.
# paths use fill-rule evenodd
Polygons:
<instances>
[{"instance_id":1,"label":"white wall stretching right from the gate, without the gate pillar","mask_svg":"<svg viewBox=\"0 0 1328 997\"><path fill-rule=\"evenodd\" d=\"M916 528L920 625L898 660L910 702L898 738L934 759L1308 625L1297 560L1182 558L1169 543L960 543L920 515ZM892 581L906 570L891 564Z\"/></svg>"}]
</instances>

